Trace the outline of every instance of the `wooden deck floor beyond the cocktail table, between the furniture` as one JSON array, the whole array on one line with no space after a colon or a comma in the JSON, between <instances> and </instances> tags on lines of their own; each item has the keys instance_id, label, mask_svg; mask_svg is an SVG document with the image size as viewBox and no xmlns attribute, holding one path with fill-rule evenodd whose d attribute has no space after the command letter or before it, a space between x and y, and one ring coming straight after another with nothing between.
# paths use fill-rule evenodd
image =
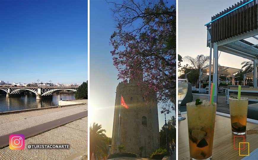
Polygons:
<instances>
[{"instance_id":1,"label":"wooden deck floor beyond the cocktail table, between the furniture","mask_svg":"<svg viewBox=\"0 0 258 160\"><path fill-rule=\"evenodd\" d=\"M193 101L195 101L196 99L200 99L201 101L209 100L208 96L193 95ZM255 103L255 102L249 101L249 104L253 104L253 103ZM185 112L186 111L186 105L181 106L180 109L181 109L181 112ZM227 101L226 101L226 96L223 96L223 95L218 96L217 112L230 114L229 113L229 105L227 104Z\"/></svg>"}]
</instances>

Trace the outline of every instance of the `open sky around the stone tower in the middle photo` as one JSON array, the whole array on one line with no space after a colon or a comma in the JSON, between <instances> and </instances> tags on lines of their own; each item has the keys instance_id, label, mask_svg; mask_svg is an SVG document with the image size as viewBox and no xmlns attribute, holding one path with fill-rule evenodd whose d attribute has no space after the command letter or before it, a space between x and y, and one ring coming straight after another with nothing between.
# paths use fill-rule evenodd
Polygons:
<instances>
[{"instance_id":1,"label":"open sky around the stone tower in the middle photo","mask_svg":"<svg viewBox=\"0 0 258 160\"><path fill-rule=\"evenodd\" d=\"M175 1L169 1L175 4ZM105 1L90 1L90 124L93 122L102 124L106 129L106 135L112 137L114 118L114 104L118 71L113 66L113 50L109 45L111 34L115 30L116 23L109 9L113 7ZM159 112L160 128L165 124L164 114ZM172 111L167 117L175 115Z\"/></svg>"}]
</instances>

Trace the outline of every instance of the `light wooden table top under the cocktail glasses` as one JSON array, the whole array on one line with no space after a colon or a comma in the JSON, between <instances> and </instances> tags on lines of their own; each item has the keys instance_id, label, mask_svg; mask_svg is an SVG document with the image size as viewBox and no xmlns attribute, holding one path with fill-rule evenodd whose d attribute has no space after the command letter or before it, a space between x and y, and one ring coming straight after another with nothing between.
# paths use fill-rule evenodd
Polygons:
<instances>
[{"instance_id":1,"label":"light wooden table top under the cocktail glasses","mask_svg":"<svg viewBox=\"0 0 258 160\"><path fill-rule=\"evenodd\" d=\"M187 117L187 114L183 114L183 116ZM187 118L186 120L178 121L178 123L178 159L189 160L190 153ZM251 153L258 148L258 124L247 122L246 129L247 135L244 135L245 142L249 142L249 153ZM239 135L232 134L230 118L216 115L212 160L243 159L245 157L239 156L239 150L234 149L234 136ZM242 137L235 138L235 148L239 148L239 142L243 142ZM241 154L244 153L241 152Z\"/></svg>"}]
</instances>

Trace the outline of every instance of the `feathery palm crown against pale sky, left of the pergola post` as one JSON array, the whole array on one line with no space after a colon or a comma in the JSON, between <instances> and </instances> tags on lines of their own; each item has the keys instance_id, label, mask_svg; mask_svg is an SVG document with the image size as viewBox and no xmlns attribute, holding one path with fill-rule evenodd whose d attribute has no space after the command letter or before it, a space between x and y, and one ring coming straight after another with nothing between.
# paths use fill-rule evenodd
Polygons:
<instances>
[{"instance_id":1,"label":"feathery palm crown against pale sky, left of the pergola post","mask_svg":"<svg viewBox=\"0 0 258 160\"><path fill-rule=\"evenodd\" d=\"M198 71L199 71L200 68L203 68L209 64L210 56L205 56L203 54L198 55L195 58L190 57L190 56L185 56L184 60L189 62L195 69L198 69Z\"/></svg>"}]
</instances>

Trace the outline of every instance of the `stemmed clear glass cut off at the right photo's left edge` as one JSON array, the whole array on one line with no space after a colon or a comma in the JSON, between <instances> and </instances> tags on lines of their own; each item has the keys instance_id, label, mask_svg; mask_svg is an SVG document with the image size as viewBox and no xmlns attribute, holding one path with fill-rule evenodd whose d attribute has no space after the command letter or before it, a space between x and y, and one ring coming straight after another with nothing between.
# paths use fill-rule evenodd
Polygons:
<instances>
[{"instance_id":1,"label":"stemmed clear glass cut off at the right photo's left edge","mask_svg":"<svg viewBox=\"0 0 258 160\"><path fill-rule=\"evenodd\" d=\"M178 120L184 120L185 117L181 116L180 106L185 96L187 95L188 82L187 79L178 79Z\"/></svg>"}]
</instances>

